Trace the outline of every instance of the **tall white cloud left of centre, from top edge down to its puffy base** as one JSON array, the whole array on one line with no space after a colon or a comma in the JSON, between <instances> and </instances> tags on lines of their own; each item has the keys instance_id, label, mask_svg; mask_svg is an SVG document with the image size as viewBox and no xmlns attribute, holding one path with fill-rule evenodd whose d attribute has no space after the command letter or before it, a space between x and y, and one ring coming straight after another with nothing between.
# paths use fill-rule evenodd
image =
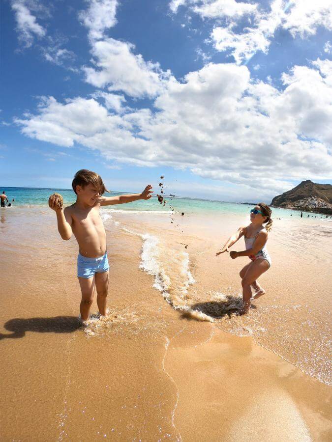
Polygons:
<instances>
[{"instance_id":1,"label":"tall white cloud left of centre, from top edge down to its puffy base","mask_svg":"<svg viewBox=\"0 0 332 442\"><path fill-rule=\"evenodd\" d=\"M145 61L142 55L134 54L133 44L107 37L106 30L117 23L117 0L89 0L88 3L88 9L79 13L82 24L89 29L93 57L92 66L82 68L85 81L135 98L155 97L170 72L162 71L159 63Z\"/></svg>"}]
</instances>

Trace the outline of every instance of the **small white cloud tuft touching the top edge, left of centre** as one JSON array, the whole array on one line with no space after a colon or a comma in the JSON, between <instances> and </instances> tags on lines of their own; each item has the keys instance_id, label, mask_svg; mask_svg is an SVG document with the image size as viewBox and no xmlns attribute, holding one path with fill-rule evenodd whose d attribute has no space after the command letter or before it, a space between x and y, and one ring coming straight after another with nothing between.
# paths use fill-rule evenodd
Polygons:
<instances>
[{"instance_id":1,"label":"small white cloud tuft touching the top edge, left of centre","mask_svg":"<svg viewBox=\"0 0 332 442\"><path fill-rule=\"evenodd\" d=\"M86 0L88 9L79 13L79 19L89 29L91 40L104 37L105 29L116 25L117 0Z\"/></svg>"}]
</instances>

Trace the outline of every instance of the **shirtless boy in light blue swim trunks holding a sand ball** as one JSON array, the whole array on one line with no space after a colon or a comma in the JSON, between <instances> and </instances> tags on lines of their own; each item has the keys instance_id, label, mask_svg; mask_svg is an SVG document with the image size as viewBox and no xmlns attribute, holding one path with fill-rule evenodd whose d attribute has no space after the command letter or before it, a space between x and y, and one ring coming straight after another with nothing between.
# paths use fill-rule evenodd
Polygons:
<instances>
[{"instance_id":1,"label":"shirtless boy in light blue swim trunks holding a sand ball","mask_svg":"<svg viewBox=\"0 0 332 442\"><path fill-rule=\"evenodd\" d=\"M100 206L123 204L138 199L150 199L152 187L149 184L142 193L119 196L102 196L107 192L101 177L90 170L79 170L73 179L72 188L77 195L76 202L64 210L58 204L58 197L51 195L48 203L57 213L58 230L63 240L69 240L74 233L79 245L77 276L80 282L82 300L80 312L82 322L89 318L94 286L97 290L97 305L101 315L106 315L109 265L106 251L106 232L99 216Z\"/></svg>"}]
</instances>

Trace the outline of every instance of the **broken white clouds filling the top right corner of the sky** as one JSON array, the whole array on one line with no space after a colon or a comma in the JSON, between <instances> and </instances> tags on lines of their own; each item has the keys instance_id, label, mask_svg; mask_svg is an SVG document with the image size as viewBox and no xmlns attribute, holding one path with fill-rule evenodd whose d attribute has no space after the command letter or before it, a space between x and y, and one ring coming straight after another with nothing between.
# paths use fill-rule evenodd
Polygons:
<instances>
[{"instance_id":1,"label":"broken white clouds filling the top right corner of the sky","mask_svg":"<svg viewBox=\"0 0 332 442\"><path fill-rule=\"evenodd\" d=\"M180 5L202 18L225 21L214 26L211 41L218 51L230 51L238 64L257 51L266 54L277 28L301 38L315 34L318 27L332 29L332 0L273 0L268 9L235 0L183 0L172 1L171 10L176 13Z\"/></svg>"}]
</instances>

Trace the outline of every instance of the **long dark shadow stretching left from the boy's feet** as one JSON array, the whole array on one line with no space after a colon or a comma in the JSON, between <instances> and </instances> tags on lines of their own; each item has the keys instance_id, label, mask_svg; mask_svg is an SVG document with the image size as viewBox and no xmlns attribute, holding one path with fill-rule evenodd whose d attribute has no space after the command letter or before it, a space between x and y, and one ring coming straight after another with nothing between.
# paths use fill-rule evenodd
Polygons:
<instances>
[{"instance_id":1,"label":"long dark shadow stretching left from the boy's feet","mask_svg":"<svg viewBox=\"0 0 332 442\"><path fill-rule=\"evenodd\" d=\"M81 327L77 316L56 316L54 318L14 318L4 324L4 328L11 334L0 333L0 339L20 338L27 331L38 333L72 333Z\"/></svg>"}]
</instances>

